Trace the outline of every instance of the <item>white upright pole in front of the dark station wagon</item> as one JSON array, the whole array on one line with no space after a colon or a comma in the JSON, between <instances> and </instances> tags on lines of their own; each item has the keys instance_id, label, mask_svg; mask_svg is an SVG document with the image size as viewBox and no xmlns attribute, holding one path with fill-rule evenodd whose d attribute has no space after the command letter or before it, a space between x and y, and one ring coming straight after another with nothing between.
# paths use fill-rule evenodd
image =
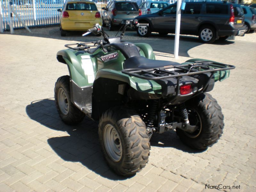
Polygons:
<instances>
[{"instance_id":1,"label":"white upright pole in front of the dark station wagon","mask_svg":"<svg viewBox=\"0 0 256 192\"><path fill-rule=\"evenodd\" d=\"M176 11L176 28L175 28L175 41L174 41L174 58L179 57L179 41L180 41L180 13L181 13L181 0L177 1Z\"/></svg>"}]
</instances>

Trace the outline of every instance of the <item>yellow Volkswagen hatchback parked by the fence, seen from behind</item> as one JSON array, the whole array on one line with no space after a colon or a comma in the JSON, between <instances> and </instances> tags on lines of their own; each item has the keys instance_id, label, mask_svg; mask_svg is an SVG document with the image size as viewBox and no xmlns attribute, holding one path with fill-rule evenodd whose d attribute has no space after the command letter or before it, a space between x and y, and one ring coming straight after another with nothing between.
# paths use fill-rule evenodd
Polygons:
<instances>
[{"instance_id":1,"label":"yellow Volkswagen hatchback parked by the fence, seen from behind","mask_svg":"<svg viewBox=\"0 0 256 192\"><path fill-rule=\"evenodd\" d=\"M68 0L57 11L61 12L61 36L66 36L67 31L87 31L96 23L101 25L100 12L92 1Z\"/></svg>"}]
</instances>

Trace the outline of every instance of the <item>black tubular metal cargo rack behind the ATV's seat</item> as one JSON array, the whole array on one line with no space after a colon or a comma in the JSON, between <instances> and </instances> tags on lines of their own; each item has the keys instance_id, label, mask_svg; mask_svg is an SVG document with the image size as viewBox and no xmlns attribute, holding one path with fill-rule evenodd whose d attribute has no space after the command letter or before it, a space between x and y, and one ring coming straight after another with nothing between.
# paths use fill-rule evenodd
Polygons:
<instances>
[{"instance_id":1,"label":"black tubular metal cargo rack behind the ATV's seat","mask_svg":"<svg viewBox=\"0 0 256 192\"><path fill-rule=\"evenodd\" d=\"M167 79L172 77L192 76L201 73L212 73L234 69L235 66L222 63L195 61L192 64L167 66L161 68L139 69L130 68L122 70L122 73L146 80Z\"/></svg>"}]
</instances>

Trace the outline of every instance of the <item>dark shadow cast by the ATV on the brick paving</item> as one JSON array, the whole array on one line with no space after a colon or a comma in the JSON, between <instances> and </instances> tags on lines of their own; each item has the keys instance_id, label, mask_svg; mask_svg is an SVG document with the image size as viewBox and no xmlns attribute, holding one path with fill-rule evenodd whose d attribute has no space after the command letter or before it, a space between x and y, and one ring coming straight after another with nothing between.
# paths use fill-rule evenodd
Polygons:
<instances>
[{"instance_id":1,"label":"dark shadow cast by the ATV on the brick paving","mask_svg":"<svg viewBox=\"0 0 256 192\"><path fill-rule=\"evenodd\" d=\"M52 137L47 140L53 151L63 160L80 162L93 172L111 180L128 179L116 175L109 169L101 152L97 122L85 117L79 125L64 124L56 110L55 101L51 98L31 102L26 107L26 112L29 118L38 123L69 134L69 136ZM151 146L156 147L172 147L188 153L198 152L181 143L174 131L163 134L155 133L150 143Z\"/></svg>"}]
</instances>

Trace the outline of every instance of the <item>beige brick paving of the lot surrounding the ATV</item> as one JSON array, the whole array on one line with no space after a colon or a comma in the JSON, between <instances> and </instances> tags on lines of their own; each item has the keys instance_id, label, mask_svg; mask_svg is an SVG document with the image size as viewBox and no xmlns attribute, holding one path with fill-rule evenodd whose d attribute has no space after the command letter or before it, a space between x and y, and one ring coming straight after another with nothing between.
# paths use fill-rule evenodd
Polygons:
<instances>
[{"instance_id":1,"label":"beige brick paving of the lot surrounding the ATV","mask_svg":"<svg viewBox=\"0 0 256 192\"><path fill-rule=\"evenodd\" d=\"M215 191L206 184L256 191L256 33L215 44L181 38L180 62L203 58L236 65L211 92L222 106L224 134L200 152L184 146L174 131L155 134L147 166L127 179L105 163L96 123L86 118L67 126L55 108L54 83L68 74L56 52L84 38L79 33L60 37L58 27L32 32L0 34L0 191ZM139 38L129 31L125 39L148 42L157 59L174 60L172 35Z\"/></svg>"}]
</instances>

